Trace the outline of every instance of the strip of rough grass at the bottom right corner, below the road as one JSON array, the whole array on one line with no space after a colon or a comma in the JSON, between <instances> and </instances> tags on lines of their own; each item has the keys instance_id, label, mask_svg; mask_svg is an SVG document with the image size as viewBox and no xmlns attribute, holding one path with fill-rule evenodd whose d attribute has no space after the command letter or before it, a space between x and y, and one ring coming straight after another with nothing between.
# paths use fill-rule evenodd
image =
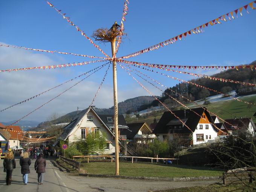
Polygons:
<instances>
[{"instance_id":1,"label":"strip of rough grass at the bottom right corner, below the road","mask_svg":"<svg viewBox=\"0 0 256 192\"><path fill-rule=\"evenodd\" d=\"M198 187L183 187L177 189L161 190L155 192L198 192L198 191L207 191L207 192L224 192L224 191L236 191L236 192L253 192L255 184L250 184L248 187L243 184L229 184L223 186L221 184L212 184L210 186L198 186ZM255 189L255 188L254 188Z\"/></svg>"}]
</instances>

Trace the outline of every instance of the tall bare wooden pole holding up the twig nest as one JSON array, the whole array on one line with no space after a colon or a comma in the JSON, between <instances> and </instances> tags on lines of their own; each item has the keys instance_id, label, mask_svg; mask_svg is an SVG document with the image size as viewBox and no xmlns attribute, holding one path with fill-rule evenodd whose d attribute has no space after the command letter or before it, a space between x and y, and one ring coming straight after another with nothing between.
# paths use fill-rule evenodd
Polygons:
<instances>
[{"instance_id":1,"label":"tall bare wooden pole holding up the twig nest","mask_svg":"<svg viewBox=\"0 0 256 192\"><path fill-rule=\"evenodd\" d=\"M111 41L112 56L116 52L116 38ZM119 175L119 146L118 146L118 107L117 107L117 77L116 61L113 61L113 92L114 92L114 134L115 134L115 161L116 175Z\"/></svg>"}]
</instances>

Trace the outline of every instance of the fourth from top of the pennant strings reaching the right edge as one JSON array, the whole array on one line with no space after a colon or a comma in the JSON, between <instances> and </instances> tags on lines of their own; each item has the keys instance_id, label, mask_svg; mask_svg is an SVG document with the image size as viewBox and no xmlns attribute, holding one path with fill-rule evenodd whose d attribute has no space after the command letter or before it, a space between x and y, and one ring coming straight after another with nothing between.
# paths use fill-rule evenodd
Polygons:
<instances>
[{"instance_id":1,"label":"fourth from top of the pennant strings reaching the right edge","mask_svg":"<svg viewBox=\"0 0 256 192\"><path fill-rule=\"evenodd\" d=\"M140 66L137 66L137 65L133 65L133 66L140 68ZM143 67L142 69L148 70L148 71L150 71L150 72L158 73L158 72L155 72L154 70L146 69L146 68L144 68L144 67ZM207 90L209 90L209 91L213 91L213 92L218 93L218 94L222 94L223 96L230 97L230 98L235 99L236 101L239 101L239 102L244 102L245 104L248 104L248 105L256 105L255 103L251 103L251 102L243 101L243 100L238 99L238 98L234 98L234 97L232 97L232 96L230 96L230 95L228 95L228 94L221 93L220 91L216 91L216 90L213 90L213 89L211 89L211 88L204 87L204 86L202 86L202 85L198 85L198 84L195 84L195 83L190 82L190 81L185 81L185 80L183 80L183 79L176 78L176 77L173 77L173 76L171 76L171 75L166 75L166 74L164 74L164 73L158 73L158 74L163 75L163 76L167 76L168 78L172 78L172 79L175 79L175 80L177 80L177 81L186 82L186 83L195 85L196 87L201 87L201 88L207 89Z\"/></svg>"}]
</instances>

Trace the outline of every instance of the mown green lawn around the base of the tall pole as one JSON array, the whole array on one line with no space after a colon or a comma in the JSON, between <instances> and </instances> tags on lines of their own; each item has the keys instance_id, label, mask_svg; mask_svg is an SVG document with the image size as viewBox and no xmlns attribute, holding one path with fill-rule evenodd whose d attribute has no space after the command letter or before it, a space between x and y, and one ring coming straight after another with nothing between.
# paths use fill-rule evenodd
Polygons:
<instances>
[{"instance_id":1,"label":"mown green lawn around the base of the tall pole","mask_svg":"<svg viewBox=\"0 0 256 192\"><path fill-rule=\"evenodd\" d=\"M81 168L89 174L114 175L115 163L82 163ZM199 177L221 176L222 170L207 167L190 167L184 165L163 165L151 163L120 163L119 174L125 176L145 177Z\"/></svg>"}]
</instances>

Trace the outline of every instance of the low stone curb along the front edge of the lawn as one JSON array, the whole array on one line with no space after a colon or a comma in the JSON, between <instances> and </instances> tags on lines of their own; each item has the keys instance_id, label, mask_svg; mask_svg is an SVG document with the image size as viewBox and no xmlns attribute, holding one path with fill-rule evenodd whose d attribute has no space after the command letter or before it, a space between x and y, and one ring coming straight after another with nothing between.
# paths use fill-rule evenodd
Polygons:
<instances>
[{"instance_id":1,"label":"low stone curb along the front edge of the lawn","mask_svg":"<svg viewBox=\"0 0 256 192\"><path fill-rule=\"evenodd\" d=\"M154 180L154 181L208 181L219 180L222 177L132 177L121 175L96 175L80 173L80 176L85 177L101 177L101 178L120 178L120 179L136 179L136 180Z\"/></svg>"}]
</instances>

